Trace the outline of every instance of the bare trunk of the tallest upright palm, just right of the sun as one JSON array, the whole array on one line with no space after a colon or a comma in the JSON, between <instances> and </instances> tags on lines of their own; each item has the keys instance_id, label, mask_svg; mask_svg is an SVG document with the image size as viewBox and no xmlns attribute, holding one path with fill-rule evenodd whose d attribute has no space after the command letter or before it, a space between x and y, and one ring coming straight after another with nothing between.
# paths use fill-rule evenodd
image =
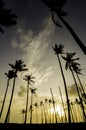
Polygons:
<instances>
[{"instance_id":1,"label":"bare trunk of the tallest upright palm, just right of the sun","mask_svg":"<svg viewBox=\"0 0 86 130\"><path fill-rule=\"evenodd\" d=\"M64 77L64 73L63 73L63 69L62 69L62 65L61 65L61 61L60 61L59 55L57 55L57 58L58 58L58 61L59 61L61 74L62 74L62 77L63 77L64 87L65 87L66 103L67 103L67 108L68 108L68 122L71 123L70 103L69 103L69 98L68 98L68 93L67 93L67 85L66 85L66 81L65 81L65 77Z\"/></svg>"}]
</instances>

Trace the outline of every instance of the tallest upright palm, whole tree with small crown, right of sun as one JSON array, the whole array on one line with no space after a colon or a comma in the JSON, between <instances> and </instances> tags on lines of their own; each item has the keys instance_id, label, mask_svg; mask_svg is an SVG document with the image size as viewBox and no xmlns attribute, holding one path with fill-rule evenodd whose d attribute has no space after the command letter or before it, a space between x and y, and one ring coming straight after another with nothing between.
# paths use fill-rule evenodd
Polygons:
<instances>
[{"instance_id":1,"label":"tallest upright palm, whole tree with small crown, right of sun","mask_svg":"<svg viewBox=\"0 0 86 130\"><path fill-rule=\"evenodd\" d=\"M55 44L55 48L53 47L53 50L55 51L55 54L57 55L58 58L58 62L59 62L59 66L61 69L61 74L62 74L62 78L63 78L63 82L64 82L64 88L65 88L65 94L66 94L66 103L67 103L67 108L68 108L68 122L71 123L71 116L70 116L70 104L69 104L69 97L68 97L68 92L67 92L67 85L66 85L66 80L65 80L65 76L63 73L63 69L62 69L62 65L61 65L61 61L60 61L60 57L59 54L63 54L63 45L56 45Z\"/></svg>"}]
</instances>

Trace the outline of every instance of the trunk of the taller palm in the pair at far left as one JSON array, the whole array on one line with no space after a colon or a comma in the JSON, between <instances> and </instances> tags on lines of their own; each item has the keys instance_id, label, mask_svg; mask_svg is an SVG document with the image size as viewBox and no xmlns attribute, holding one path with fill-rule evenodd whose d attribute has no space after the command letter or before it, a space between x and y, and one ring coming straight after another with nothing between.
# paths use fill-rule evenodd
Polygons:
<instances>
[{"instance_id":1,"label":"trunk of the taller palm in the pair at far left","mask_svg":"<svg viewBox=\"0 0 86 130\"><path fill-rule=\"evenodd\" d=\"M7 111L4 123L7 123L7 120L8 120L9 114L10 114L10 109L11 109L11 104L12 104L12 99L13 99L13 94L14 94L14 89L15 89L15 81L16 81L16 77L14 77L13 88L12 88L12 93L11 93L11 98L10 98L10 103L9 103L9 107L8 107L8 111Z\"/></svg>"}]
</instances>

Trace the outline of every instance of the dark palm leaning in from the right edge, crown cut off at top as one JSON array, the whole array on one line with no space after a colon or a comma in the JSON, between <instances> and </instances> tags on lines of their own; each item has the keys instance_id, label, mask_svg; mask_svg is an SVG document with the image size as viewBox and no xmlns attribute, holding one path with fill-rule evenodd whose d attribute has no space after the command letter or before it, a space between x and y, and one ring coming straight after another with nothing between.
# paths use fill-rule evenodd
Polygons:
<instances>
[{"instance_id":1,"label":"dark palm leaning in from the right edge, crown cut off at top","mask_svg":"<svg viewBox=\"0 0 86 130\"><path fill-rule=\"evenodd\" d=\"M66 28L69 30L83 53L86 55L86 46L82 43L80 38L77 36L75 31L72 29L72 27L66 22L66 20L63 18L63 16L67 16L67 12L65 12L62 8L66 4L66 0L42 0L45 5L47 5L52 13L52 20L53 22L58 26L62 27L56 20L55 20L55 14L58 16L58 18L61 20L61 22L66 26Z\"/></svg>"}]
</instances>

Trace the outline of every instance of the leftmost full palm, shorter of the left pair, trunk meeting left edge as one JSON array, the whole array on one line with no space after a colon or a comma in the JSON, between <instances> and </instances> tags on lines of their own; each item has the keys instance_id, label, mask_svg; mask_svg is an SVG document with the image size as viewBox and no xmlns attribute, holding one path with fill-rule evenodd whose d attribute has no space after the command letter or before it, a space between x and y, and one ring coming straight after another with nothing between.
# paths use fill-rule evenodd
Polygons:
<instances>
[{"instance_id":1,"label":"leftmost full palm, shorter of the left pair, trunk meeting left edge","mask_svg":"<svg viewBox=\"0 0 86 130\"><path fill-rule=\"evenodd\" d=\"M2 112L3 112L3 109L4 109L4 104L5 104L7 91L8 91L8 87L9 87L9 82L14 77L14 71L9 70L8 73L5 73L5 75L8 77L8 80L7 80L7 86L6 86L6 90L5 90L5 94L4 94L4 99L3 99L3 102L2 102L1 111L0 111L0 118L1 118L1 115L2 115Z\"/></svg>"}]
</instances>

